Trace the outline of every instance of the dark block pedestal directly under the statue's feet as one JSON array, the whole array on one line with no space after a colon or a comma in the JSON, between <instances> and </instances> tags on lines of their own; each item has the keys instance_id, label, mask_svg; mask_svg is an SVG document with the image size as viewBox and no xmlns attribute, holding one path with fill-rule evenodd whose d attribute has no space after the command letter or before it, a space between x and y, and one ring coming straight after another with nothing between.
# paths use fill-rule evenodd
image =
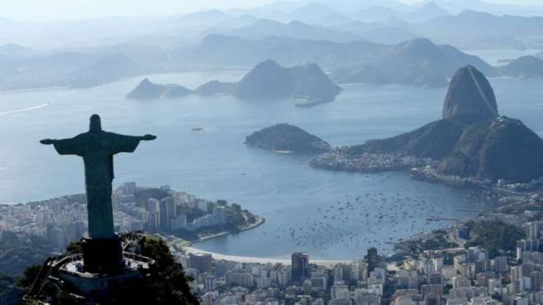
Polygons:
<instances>
[{"instance_id":1,"label":"dark block pedestal directly under the statue's feet","mask_svg":"<svg viewBox=\"0 0 543 305\"><path fill-rule=\"evenodd\" d=\"M112 273L123 266L121 238L83 238L83 266L93 273Z\"/></svg>"}]
</instances>

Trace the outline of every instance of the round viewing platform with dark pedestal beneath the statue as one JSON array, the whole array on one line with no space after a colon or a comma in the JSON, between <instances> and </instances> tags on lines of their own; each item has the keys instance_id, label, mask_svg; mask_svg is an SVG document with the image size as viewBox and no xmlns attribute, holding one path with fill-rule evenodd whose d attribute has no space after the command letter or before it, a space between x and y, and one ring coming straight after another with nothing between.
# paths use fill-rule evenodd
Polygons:
<instances>
[{"instance_id":1,"label":"round viewing platform with dark pedestal beneath the statue","mask_svg":"<svg viewBox=\"0 0 543 305\"><path fill-rule=\"evenodd\" d=\"M50 297L60 292L69 293L81 304L108 304L112 290L119 291L126 282L149 276L151 266L155 264L153 259L134 249L121 251L121 244L138 244L142 238L145 235L137 233L106 239L83 238L81 251L49 257L23 297L25 304L48 304Z\"/></svg>"}]
</instances>

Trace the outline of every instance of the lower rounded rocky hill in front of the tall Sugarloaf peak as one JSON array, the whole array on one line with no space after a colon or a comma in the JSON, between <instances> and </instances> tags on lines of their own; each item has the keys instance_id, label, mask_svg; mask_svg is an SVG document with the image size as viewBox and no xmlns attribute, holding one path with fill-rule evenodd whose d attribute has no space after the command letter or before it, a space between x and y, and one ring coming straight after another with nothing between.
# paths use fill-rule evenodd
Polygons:
<instances>
[{"instance_id":1,"label":"lower rounded rocky hill in front of the tall Sugarloaf peak","mask_svg":"<svg viewBox=\"0 0 543 305\"><path fill-rule=\"evenodd\" d=\"M543 140L520 120L500 116L464 130L441 161L445 175L530 182L543 175Z\"/></svg>"}]
</instances>

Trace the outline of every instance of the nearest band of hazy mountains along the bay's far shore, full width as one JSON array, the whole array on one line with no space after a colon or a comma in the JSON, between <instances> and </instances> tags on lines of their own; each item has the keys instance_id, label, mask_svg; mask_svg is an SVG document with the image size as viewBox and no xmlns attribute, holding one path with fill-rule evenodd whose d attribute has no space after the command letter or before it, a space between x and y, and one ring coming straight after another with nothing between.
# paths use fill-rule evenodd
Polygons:
<instances>
[{"instance_id":1,"label":"nearest band of hazy mountains along the bay's far shore, full width","mask_svg":"<svg viewBox=\"0 0 543 305\"><path fill-rule=\"evenodd\" d=\"M123 52L130 53L130 57L116 48L111 49L112 53L102 50L99 53L70 51L43 54L22 46L0 47L0 68L4 72L0 77L0 90L59 86L88 88L145 73L230 67L243 69L267 59L287 67L316 63L331 72L332 79L337 83L440 87L447 86L448 77L464 65L472 65L488 76L535 78L543 74L537 57L520 58L506 67L490 67L476 56L450 45L438 45L429 39L415 38L394 45L300 39L280 35L286 30L285 27L299 29L298 32L293 31L293 35L308 37L316 36L314 31L317 29L300 22L285 25L269 20L260 21L270 25L267 29L271 31L269 34L276 32L277 36L267 36L267 32L262 32L262 38L248 39L211 34L194 48L121 48ZM389 30L398 34L394 29L376 29L374 34L385 31L384 36L394 37L386 34ZM331 32L329 34L333 36ZM210 92L217 90L213 84L204 89Z\"/></svg>"}]
</instances>

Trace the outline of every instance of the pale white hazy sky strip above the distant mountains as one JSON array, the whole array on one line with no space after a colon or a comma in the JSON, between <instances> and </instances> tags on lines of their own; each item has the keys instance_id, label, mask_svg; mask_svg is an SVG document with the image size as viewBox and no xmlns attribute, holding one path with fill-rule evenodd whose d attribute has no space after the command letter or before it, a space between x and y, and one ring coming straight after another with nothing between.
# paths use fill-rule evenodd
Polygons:
<instances>
[{"instance_id":1,"label":"pale white hazy sky strip above the distant mountains","mask_svg":"<svg viewBox=\"0 0 543 305\"><path fill-rule=\"evenodd\" d=\"M112 15L163 15L204 8L259 6L272 1L274 0L0 0L0 17L19 20L74 20ZM401 1L413 3L418 0ZM487 2L543 4L543 0Z\"/></svg>"}]
</instances>

